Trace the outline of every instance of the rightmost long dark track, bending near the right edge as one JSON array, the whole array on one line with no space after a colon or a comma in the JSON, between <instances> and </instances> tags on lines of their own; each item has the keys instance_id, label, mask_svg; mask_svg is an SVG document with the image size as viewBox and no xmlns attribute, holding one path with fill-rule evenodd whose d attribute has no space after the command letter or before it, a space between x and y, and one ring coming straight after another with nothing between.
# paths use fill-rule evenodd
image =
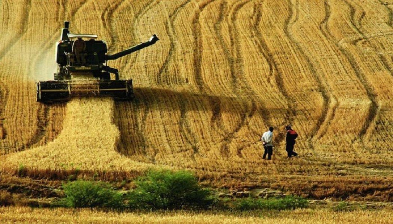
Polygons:
<instances>
[{"instance_id":1,"label":"rightmost long dark track, bending near the right edge","mask_svg":"<svg viewBox=\"0 0 393 224\"><path fill-rule=\"evenodd\" d=\"M375 93L373 86L371 86L371 84L369 84L369 82L367 81L367 78L365 77L364 74L362 74L359 66L355 63L356 60L354 59L354 57L349 52L347 52L342 46L340 46L340 44L334 39L334 36L332 35L332 33L329 31L329 28L327 27L327 21L329 20L330 15L331 15L330 5L328 4L327 0L324 1L324 5L325 5L325 13L326 13L327 19L326 19L325 23L323 24L322 31L325 33L325 36L327 37L329 42L332 42L334 44L334 46L336 46L340 50L340 52L345 56L345 58L347 58L356 77L360 80L360 82L364 86L364 89L367 93L367 97L371 101L371 105L369 107L369 115L367 116L362 129L359 131L359 137L362 140L365 133L367 132L368 128L371 126L372 122L375 122L375 118L377 117L376 115L379 110L379 105L377 103L377 95Z\"/></svg>"}]
</instances>

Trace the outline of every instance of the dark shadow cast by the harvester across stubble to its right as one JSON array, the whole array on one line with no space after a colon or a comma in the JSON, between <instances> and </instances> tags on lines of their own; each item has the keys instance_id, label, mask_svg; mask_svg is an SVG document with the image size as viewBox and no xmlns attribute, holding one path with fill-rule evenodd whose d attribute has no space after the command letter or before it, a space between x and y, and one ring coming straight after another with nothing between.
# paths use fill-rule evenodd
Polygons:
<instances>
[{"instance_id":1,"label":"dark shadow cast by the harvester across stubble to its right","mask_svg":"<svg viewBox=\"0 0 393 224\"><path fill-rule=\"evenodd\" d=\"M172 141L179 139L179 142L174 143L176 146L184 146L184 150L193 150L195 154L198 152L200 141L193 134L197 130L193 130L192 127L195 126L191 123L200 122L195 119L204 120L200 122L200 125L209 122L210 130L225 133L227 130L219 130L222 122L225 122L222 114L227 113L240 119L244 115L252 117L258 113L264 113L262 105L257 104L255 110L253 109L255 105L252 105L251 100L246 98L212 96L158 88L134 88L134 94L135 98L132 101L116 102L114 117L121 133L118 151L126 156L141 158L139 160L146 159L145 161L154 161L158 153L156 148L160 146L152 144L151 133L157 133L159 126L164 126L167 130L180 129L180 135L183 138L172 138ZM255 113L252 113L253 110ZM191 115L193 119L190 119L191 117L187 114L189 112L198 112L198 114L194 113ZM285 109L275 108L272 111L270 108L270 113L275 112L285 113ZM168 122L165 122L167 120L171 120L169 125L173 127L165 127L168 125ZM158 133L158 135L165 135L165 133ZM157 138L162 137L157 136ZM181 140L184 138L185 140ZM259 139L258 135L256 139Z\"/></svg>"}]
</instances>

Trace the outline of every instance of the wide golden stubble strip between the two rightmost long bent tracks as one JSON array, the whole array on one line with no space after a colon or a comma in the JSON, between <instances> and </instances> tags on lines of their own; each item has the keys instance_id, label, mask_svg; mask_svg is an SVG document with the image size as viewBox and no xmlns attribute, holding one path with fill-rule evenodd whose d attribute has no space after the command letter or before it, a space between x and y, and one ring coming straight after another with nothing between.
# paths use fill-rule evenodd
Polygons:
<instances>
[{"instance_id":1,"label":"wide golden stubble strip between the two rightmost long bent tracks","mask_svg":"<svg viewBox=\"0 0 393 224\"><path fill-rule=\"evenodd\" d=\"M309 10L318 13L307 14ZM310 58L311 55L318 55L311 58L312 63L316 72L323 74L329 91L337 99L336 105L332 105L334 110L330 120L324 129L320 129L316 142L329 148L335 147L339 151L348 151L349 148L356 147L354 142L359 140L357 135L369 116L372 101L348 58L329 37L329 13L324 4L299 1L299 18L290 32ZM315 23L304 23L310 19ZM335 137L336 133L340 133L339 138Z\"/></svg>"}]
</instances>

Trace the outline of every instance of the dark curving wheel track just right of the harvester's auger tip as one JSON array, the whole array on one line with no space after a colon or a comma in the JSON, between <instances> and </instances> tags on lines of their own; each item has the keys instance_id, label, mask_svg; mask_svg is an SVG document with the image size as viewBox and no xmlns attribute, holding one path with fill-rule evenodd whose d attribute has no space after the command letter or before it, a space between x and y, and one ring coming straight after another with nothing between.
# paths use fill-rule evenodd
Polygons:
<instances>
[{"instance_id":1,"label":"dark curving wheel track just right of the harvester's auger tip","mask_svg":"<svg viewBox=\"0 0 393 224\"><path fill-rule=\"evenodd\" d=\"M169 48L169 53L167 58L165 58L164 63L162 64L162 66L160 67L160 69L158 70L158 74L157 74L157 84L158 85L171 85L171 84L179 84L178 78L176 77L176 75L174 76L174 80L175 82L171 82L170 80L168 80L168 78L165 79L165 81L162 80L162 76L163 73L165 72L167 76L169 76L168 74L168 65L170 60L173 58L173 51L176 48L176 43L175 43L175 38L174 36L176 36L176 31L173 29L174 27L174 19L176 18L176 16L178 15L179 11L181 9L184 9L184 7L189 4L191 2L191 0L186 0L185 2L183 2L179 7L177 7L172 13L169 14L169 21L165 24L165 31L168 34L169 37L169 42L170 42L170 48Z\"/></svg>"}]
</instances>

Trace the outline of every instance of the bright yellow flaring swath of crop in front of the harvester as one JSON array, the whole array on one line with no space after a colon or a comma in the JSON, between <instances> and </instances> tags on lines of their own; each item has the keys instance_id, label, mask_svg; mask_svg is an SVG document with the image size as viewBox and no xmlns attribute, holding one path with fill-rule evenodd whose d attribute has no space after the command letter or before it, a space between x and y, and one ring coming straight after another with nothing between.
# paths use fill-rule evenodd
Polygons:
<instances>
[{"instance_id":1,"label":"bright yellow flaring swath of crop in front of the harvester","mask_svg":"<svg viewBox=\"0 0 393 224\"><path fill-rule=\"evenodd\" d=\"M46 146L12 153L4 167L26 169L131 170L144 169L116 152L119 130L113 124L110 98L81 98L67 104L63 129ZM34 159L32 159L34 158Z\"/></svg>"}]
</instances>

